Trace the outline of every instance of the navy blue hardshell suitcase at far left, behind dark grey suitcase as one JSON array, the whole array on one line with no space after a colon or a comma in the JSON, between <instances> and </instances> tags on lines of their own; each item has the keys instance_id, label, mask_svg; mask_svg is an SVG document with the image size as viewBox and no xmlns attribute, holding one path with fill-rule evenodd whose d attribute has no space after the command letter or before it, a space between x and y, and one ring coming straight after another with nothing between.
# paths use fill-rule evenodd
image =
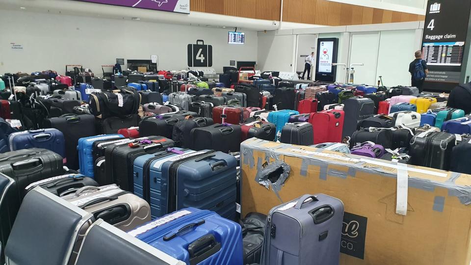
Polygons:
<instances>
[{"instance_id":1,"label":"navy blue hardshell suitcase at far left, behind dark grey suitcase","mask_svg":"<svg viewBox=\"0 0 471 265\"><path fill-rule=\"evenodd\" d=\"M8 145L10 151L33 147L48 149L65 159L64 134L57 129L13 132L8 136Z\"/></svg>"}]
</instances>

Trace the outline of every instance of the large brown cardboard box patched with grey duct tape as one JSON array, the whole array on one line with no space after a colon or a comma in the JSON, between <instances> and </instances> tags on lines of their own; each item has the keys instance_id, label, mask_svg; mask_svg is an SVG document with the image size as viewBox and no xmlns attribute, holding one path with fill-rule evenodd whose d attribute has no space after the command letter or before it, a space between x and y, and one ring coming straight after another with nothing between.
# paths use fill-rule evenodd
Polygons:
<instances>
[{"instance_id":1,"label":"large brown cardboard box patched with grey duct tape","mask_svg":"<svg viewBox=\"0 0 471 265\"><path fill-rule=\"evenodd\" d=\"M256 138L241 168L243 215L303 194L342 200L341 265L470 265L470 175Z\"/></svg>"}]
</instances>

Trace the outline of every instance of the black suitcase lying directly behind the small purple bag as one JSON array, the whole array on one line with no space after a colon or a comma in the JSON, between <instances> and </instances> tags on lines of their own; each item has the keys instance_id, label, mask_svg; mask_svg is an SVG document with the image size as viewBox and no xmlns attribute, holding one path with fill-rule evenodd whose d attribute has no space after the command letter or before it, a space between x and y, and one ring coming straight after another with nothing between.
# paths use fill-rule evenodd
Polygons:
<instances>
[{"instance_id":1,"label":"black suitcase lying directly behind the small purple bag","mask_svg":"<svg viewBox=\"0 0 471 265\"><path fill-rule=\"evenodd\" d=\"M373 142L384 148L392 147L392 131L388 129L365 128L353 133L350 140L350 148L364 142Z\"/></svg>"}]
</instances>

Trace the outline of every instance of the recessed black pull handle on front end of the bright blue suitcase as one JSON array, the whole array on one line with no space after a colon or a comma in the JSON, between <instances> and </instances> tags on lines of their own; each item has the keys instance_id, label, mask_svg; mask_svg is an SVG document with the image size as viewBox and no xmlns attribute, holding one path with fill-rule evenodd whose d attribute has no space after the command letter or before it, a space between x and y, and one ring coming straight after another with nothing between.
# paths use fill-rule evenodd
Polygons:
<instances>
[{"instance_id":1,"label":"recessed black pull handle on front end of the bright blue suitcase","mask_svg":"<svg viewBox=\"0 0 471 265\"><path fill-rule=\"evenodd\" d=\"M217 242L212 234L196 239L188 245L190 265L201 263L219 250L221 250L221 243Z\"/></svg>"}]
</instances>

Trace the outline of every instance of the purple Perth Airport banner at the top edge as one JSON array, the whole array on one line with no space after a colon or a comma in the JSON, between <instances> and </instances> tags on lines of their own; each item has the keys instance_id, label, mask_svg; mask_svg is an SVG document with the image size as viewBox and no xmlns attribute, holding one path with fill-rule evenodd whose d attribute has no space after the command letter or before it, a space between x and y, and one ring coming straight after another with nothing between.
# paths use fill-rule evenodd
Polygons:
<instances>
[{"instance_id":1,"label":"purple Perth Airport banner at the top edge","mask_svg":"<svg viewBox=\"0 0 471 265\"><path fill-rule=\"evenodd\" d=\"M190 0L78 0L177 13L190 13Z\"/></svg>"}]
</instances>

